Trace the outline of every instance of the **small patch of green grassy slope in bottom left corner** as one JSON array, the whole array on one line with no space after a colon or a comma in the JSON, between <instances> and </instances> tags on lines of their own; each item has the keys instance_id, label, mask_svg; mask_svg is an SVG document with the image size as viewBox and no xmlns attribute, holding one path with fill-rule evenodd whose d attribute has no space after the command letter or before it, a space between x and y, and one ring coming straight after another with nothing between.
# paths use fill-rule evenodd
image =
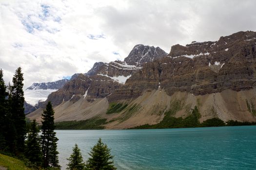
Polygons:
<instances>
[{"instance_id":1,"label":"small patch of green grassy slope in bottom left corner","mask_svg":"<svg viewBox=\"0 0 256 170\"><path fill-rule=\"evenodd\" d=\"M8 170L31 170L21 160L3 154L0 154L0 167Z\"/></svg>"}]
</instances>

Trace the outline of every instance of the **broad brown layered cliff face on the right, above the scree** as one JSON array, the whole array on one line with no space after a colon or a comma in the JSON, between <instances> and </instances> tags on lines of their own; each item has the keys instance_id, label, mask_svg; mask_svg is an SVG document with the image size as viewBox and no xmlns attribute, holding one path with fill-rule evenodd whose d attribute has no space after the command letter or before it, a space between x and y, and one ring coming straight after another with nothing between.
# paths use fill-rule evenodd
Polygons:
<instances>
[{"instance_id":1,"label":"broad brown layered cliff face on the right, above the scree","mask_svg":"<svg viewBox=\"0 0 256 170\"><path fill-rule=\"evenodd\" d=\"M193 95L256 86L256 33L238 32L216 42L175 45L168 57L145 63L109 101L137 98L145 90L163 88Z\"/></svg>"}]
</instances>

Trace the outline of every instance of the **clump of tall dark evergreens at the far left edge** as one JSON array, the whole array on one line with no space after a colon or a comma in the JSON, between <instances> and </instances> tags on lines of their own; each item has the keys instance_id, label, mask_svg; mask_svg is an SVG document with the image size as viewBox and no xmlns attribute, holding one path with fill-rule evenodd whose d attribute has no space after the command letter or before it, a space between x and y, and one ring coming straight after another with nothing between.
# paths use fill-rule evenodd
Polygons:
<instances>
[{"instance_id":1,"label":"clump of tall dark evergreens at the far left edge","mask_svg":"<svg viewBox=\"0 0 256 170\"><path fill-rule=\"evenodd\" d=\"M17 68L13 85L5 86L0 69L0 152L22 155L26 135L23 73Z\"/></svg>"}]
</instances>

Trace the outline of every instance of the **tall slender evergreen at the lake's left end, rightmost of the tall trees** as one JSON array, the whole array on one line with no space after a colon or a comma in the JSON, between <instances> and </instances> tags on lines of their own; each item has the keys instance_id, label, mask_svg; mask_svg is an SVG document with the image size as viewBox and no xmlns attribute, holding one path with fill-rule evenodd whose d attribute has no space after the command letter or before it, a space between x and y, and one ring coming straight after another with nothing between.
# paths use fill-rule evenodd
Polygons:
<instances>
[{"instance_id":1,"label":"tall slender evergreen at the lake's left end, rightmost of the tall trees","mask_svg":"<svg viewBox=\"0 0 256 170\"><path fill-rule=\"evenodd\" d=\"M60 168L57 151L56 132L54 132L54 110L51 102L48 102L46 109L43 110L42 114L42 127L41 127L41 144L42 144L42 155L43 155L43 167L56 167Z\"/></svg>"}]
</instances>

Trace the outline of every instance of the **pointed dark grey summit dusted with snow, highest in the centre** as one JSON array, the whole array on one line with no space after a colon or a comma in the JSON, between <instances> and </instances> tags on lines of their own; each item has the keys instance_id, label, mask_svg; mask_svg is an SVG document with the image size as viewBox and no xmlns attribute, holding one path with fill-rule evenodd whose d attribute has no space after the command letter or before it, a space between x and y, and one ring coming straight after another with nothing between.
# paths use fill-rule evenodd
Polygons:
<instances>
[{"instance_id":1,"label":"pointed dark grey summit dusted with snow, highest in the centre","mask_svg":"<svg viewBox=\"0 0 256 170\"><path fill-rule=\"evenodd\" d=\"M167 53L154 46L136 45L130 54L124 59L128 65L143 66L144 63L152 62L155 59L167 56Z\"/></svg>"}]
</instances>

